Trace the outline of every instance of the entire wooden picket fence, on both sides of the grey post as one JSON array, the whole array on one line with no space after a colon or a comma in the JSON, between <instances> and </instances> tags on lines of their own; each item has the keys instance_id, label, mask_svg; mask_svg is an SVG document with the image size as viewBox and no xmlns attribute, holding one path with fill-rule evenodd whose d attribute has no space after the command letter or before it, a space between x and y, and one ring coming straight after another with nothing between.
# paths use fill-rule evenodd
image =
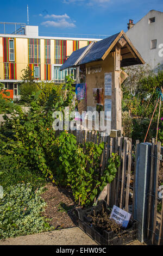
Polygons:
<instances>
[{"instance_id":1,"label":"entire wooden picket fence, on both sides of the grey post","mask_svg":"<svg viewBox=\"0 0 163 256\"><path fill-rule=\"evenodd\" d=\"M85 142L94 142L96 144L104 142L103 153L100 157L101 161L101 174L103 173L108 159L112 153L117 153L121 159L121 165L118 168L115 179L108 184L104 190L95 198L105 199L107 204L112 207L116 205L121 209L131 213L134 217L134 204L135 204L135 175L136 175L136 148L139 140L135 145L127 137L105 136L105 133L97 131L69 131L77 137L77 144L84 144ZM146 220L146 229L148 240L152 244L163 244L163 198L161 214L158 214L158 176L162 161L160 161L161 143L155 145L152 139L152 152L151 152L151 176L148 192L148 217ZM163 168L163 166L162 166ZM163 170L162 170L163 174ZM160 202L160 201L159 201Z\"/></svg>"}]
</instances>

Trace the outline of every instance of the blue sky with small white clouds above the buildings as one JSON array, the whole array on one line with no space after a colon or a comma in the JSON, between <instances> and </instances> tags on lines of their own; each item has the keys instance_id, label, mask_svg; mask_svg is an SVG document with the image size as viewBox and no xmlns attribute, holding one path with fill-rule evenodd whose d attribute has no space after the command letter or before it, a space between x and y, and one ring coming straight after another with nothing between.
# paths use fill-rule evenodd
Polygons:
<instances>
[{"instance_id":1,"label":"blue sky with small white clouds above the buildings","mask_svg":"<svg viewBox=\"0 0 163 256\"><path fill-rule=\"evenodd\" d=\"M29 25L39 26L40 36L109 36L126 32L129 19L136 23L150 10L163 12L162 0L8 0L1 1L0 21L27 25L27 4Z\"/></svg>"}]
</instances>

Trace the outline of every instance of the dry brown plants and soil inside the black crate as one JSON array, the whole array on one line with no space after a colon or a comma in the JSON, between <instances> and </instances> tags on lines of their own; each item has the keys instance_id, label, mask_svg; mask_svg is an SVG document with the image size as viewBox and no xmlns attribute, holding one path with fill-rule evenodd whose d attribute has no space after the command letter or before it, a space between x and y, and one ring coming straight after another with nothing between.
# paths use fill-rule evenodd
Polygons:
<instances>
[{"instance_id":1,"label":"dry brown plants and soil inside the black crate","mask_svg":"<svg viewBox=\"0 0 163 256\"><path fill-rule=\"evenodd\" d=\"M91 218L91 224L93 228L99 233L103 234L103 231L113 231L114 234L120 234L124 228L121 224L116 223L114 220L110 219L110 215L104 210L102 205L102 210L99 213L96 213L95 210L92 211L92 215L87 217Z\"/></svg>"}]
</instances>

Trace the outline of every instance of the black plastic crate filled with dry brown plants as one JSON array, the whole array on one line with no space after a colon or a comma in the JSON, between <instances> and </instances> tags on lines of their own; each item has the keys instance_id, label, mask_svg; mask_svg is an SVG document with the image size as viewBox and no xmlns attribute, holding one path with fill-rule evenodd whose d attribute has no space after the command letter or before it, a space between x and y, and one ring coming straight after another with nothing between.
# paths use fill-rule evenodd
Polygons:
<instances>
[{"instance_id":1,"label":"black plastic crate filled with dry brown plants","mask_svg":"<svg viewBox=\"0 0 163 256\"><path fill-rule=\"evenodd\" d=\"M137 239L137 221L129 221L124 229L110 220L111 210L101 200L89 209L77 209L78 226L99 245L125 245Z\"/></svg>"}]
</instances>

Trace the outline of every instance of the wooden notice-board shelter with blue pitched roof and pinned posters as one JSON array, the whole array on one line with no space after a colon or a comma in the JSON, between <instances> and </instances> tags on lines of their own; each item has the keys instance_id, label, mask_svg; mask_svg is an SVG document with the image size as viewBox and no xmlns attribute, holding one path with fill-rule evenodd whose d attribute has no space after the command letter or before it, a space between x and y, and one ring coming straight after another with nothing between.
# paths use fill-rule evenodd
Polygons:
<instances>
[{"instance_id":1,"label":"wooden notice-board shelter with blue pitched roof and pinned posters","mask_svg":"<svg viewBox=\"0 0 163 256\"><path fill-rule=\"evenodd\" d=\"M77 83L86 84L87 110L110 111L111 130L121 131L121 83L127 77L121 68L136 64L145 62L121 31L74 51L60 70L77 67Z\"/></svg>"}]
</instances>

